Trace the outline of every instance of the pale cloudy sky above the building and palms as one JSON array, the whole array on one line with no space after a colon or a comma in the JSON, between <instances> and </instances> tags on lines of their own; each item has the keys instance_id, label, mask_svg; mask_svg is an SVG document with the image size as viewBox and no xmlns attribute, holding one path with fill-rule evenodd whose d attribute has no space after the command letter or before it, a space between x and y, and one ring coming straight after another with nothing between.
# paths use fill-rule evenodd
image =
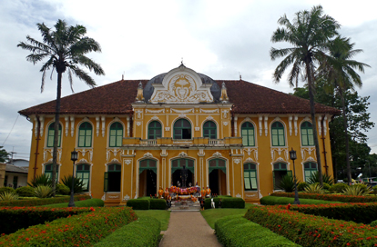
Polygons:
<instances>
[{"instance_id":1,"label":"pale cloudy sky above the building and palms","mask_svg":"<svg viewBox=\"0 0 377 247\"><path fill-rule=\"evenodd\" d=\"M272 33L282 15L292 20L301 10L322 5L326 15L341 24L340 34L351 37L354 59L371 65L362 76L361 96L369 99L371 120L377 123L377 15L374 1L0 1L0 146L29 159L32 123L17 112L56 99L56 73L46 78L41 94L43 63L32 64L29 52L16 47L26 35L42 40L37 23L53 27L58 19L84 25L87 36L101 44L102 53L88 54L106 75L91 73L97 85L122 79L151 79L183 63L214 80L242 80L284 93L293 93L284 74L280 84L272 73L281 59L270 60ZM302 86L302 83L299 85ZM74 78L75 93L88 86ZM72 94L66 75L62 96ZM369 131L371 153L377 153L377 127Z\"/></svg>"}]
</instances>

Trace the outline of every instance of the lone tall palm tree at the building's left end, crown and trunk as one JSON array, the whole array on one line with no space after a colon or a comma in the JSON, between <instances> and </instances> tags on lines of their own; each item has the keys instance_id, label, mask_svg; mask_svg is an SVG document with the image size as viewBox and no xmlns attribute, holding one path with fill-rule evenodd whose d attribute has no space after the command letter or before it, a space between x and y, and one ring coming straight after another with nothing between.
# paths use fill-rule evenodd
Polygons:
<instances>
[{"instance_id":1,"label":"lone tall palm tree at the building's left end, crown and trunk","mask_svg":"<svg viewBox=\"0 0 377 247\"><path fill-rule=\"evenodd\" d=\"M53 173L52 181L53 188L56 188L56 157L57 157L57 140L58 140L58 127L59 127L59 114L60 114L60 97L62 88L62 75L68 72L68 81L71 86L72 92L72 74L75 74L80 80L84 81L91 87L96 86L95 81L83 71L78 65L87 67L97 75L105 74L102 67L96 64L93 60L88 58L85 54L89 52L101 52L101 47L92 38L85 36L87 28L83 25L67 26L64 20L58 20L55 25L55 30L51 30L44 23L36 24L38 30L41 32L43 42L26 36L26 42L17 44L31 52L26 56L26 60L36 64L39 61L47 58L43 64L40 72L42 72L42 85L41 93L45 86L46 72L54 69L57 73L57 90L56 90L56 114L55 114L55 133L54 133L54 150L53 150ZM52 78L51 74L51 78ZM54 193L55 196L55 193Z\"/></svg>"}]
</instances>

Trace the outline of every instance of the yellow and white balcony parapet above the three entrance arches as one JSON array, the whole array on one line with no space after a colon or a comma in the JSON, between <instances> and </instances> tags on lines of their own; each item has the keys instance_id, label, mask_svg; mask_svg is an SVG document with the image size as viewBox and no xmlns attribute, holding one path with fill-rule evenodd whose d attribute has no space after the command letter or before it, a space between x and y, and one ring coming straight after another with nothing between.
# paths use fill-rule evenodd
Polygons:
<instances>
[{"instance_id":1,"label":"yellow and white balcony parapet above the three entrance arches","mask_svg":"<svg viewBox=\"0 0 377 247\"><path fill-rule=\"evenodd\" d=\"M229 147L242 146L241 137L226 137L224 139L209 139L208 137L194 137L192 139L173 139L160 137L157 139L140 139L138 137L123 138L123 146L203 146L203 147Z\"/></svg>"}]
</instances>

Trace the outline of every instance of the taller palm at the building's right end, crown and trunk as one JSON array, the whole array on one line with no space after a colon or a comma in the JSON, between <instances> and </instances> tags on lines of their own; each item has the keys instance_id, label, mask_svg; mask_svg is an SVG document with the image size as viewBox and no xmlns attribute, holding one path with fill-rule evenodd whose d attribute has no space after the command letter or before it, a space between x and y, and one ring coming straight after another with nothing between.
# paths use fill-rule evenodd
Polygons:
<instances>
[{"instance_id":1,"label":"taller palm at the building's right end, crown and trunk","mask_svg":"<svg viewBox=\"0 0 377 247\"><path fill-rule=\"evenodd\" d=\"M313 6L310 12L304 10L296 13L293 23L290 23L287 15L281 16L278 23L285 27L278 28L272 34L271 41L273 43L286 42L292 44L293 47L283 49L271 48L271 60L285 57L275 69L273 78L275 83L279 83L282 74L292 65L288 76L290 85L296 85L297 87L299 77L308 83L314 144L320 173L320 183L322 185L320 146L317 136L317 124L314 124L316 123L313 96L314 71L319 61L321 61L321 57L327 51L330 39L337 35L337 29L340 28L340 25L331 16L323 15L321 5Z\"/></svg>"}]
</instances>

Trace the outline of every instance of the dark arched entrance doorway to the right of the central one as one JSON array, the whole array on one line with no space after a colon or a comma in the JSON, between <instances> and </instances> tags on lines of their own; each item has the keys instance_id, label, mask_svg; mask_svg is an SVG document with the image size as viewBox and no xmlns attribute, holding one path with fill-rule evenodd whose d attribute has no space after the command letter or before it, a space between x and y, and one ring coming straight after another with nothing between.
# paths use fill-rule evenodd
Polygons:
<instances>
[{"instance_id":1,"label":"dark arched entrance doorway to the right of the central one","mask_svg":"<svg viewBox=\"0 0 377 247\"><path fill-rule=\"evenodd\" d=\"M225 160L209 161L209 188L211 193L227 194L227 165Z\"/></svg>"}]
</instances>

